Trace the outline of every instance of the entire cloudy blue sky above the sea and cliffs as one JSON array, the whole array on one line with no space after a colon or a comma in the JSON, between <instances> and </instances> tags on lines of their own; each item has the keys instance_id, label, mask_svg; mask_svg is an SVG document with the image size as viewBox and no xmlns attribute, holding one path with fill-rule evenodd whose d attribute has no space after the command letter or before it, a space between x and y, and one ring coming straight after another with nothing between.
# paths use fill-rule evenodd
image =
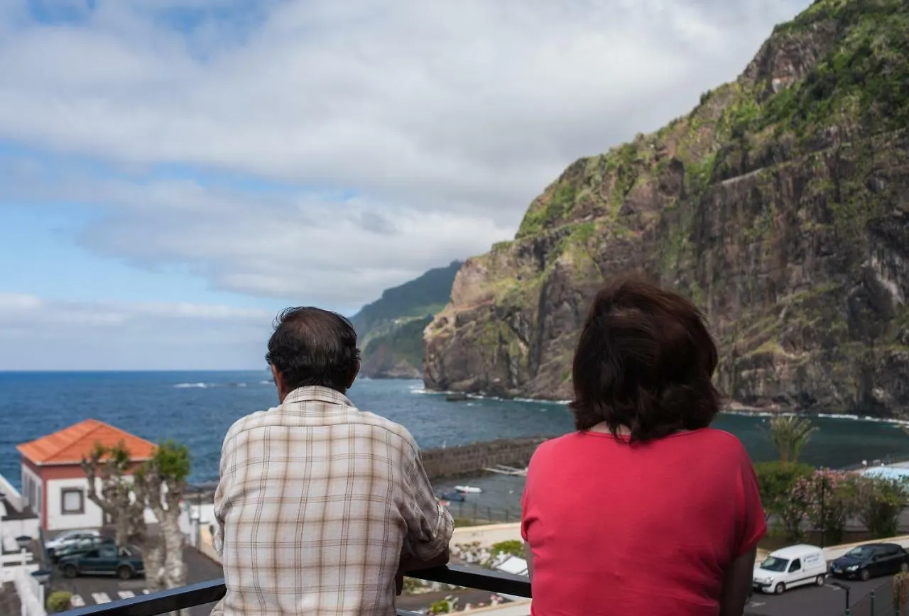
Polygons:
<instances>
[{"instance_id":1,"label":"entire cloudy blue sky above the sea and cliffs","mask_svg":"<svg viewBox=\"0 0 909 616\"><path fill-rule=\"evenodd\" d=\"M3 0L0 370L264 367L511 239L810 0Z\"/></svg>"}]
</instances>

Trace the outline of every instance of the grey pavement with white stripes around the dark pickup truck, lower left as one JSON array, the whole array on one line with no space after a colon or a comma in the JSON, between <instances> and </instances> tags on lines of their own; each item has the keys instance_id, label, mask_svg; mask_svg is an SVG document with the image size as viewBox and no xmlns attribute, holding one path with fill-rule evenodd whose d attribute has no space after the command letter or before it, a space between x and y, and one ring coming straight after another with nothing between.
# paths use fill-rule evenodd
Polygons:
<instances>
[{"instance_id":1,"label":"grey pavement with white stripes around the dark pickup truck, lower left","mask_svg":"<svg viewBox=\"0 0 909 616\"><path fill-rule=\"evenodd\" d=\"M184 561L186 563L187 583L194 584L199 581L224 577L221 565L210 561L193 548L185 548ZM51 569L53 573L49 582L50 588L48 592L72 592L74 608L129 599L148 592L145 578L119 580L113 576L80 576L69 580L56 567ZM212 605L208 604L197 605L189 613L190 616L207 616L211 611Z\"/></svg>"}]
</instances>

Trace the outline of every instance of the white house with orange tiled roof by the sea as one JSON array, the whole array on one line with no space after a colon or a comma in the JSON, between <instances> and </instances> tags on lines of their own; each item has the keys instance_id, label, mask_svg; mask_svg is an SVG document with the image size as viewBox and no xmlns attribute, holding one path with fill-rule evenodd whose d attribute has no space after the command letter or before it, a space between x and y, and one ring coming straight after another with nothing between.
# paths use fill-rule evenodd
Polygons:
<instances>
[{"instance_id":1,"label":"white house with orange tiled roof by the sea","mask_svg":"<svg viewBox=\"0 0 909 616\"><path fill-rule=\"evenodd\" d=\"M86 495L88 481L82 459L91 455L98 443L113 447L120 442L130 452L133 469L155 452L154 443L95 419L16 446L22 454L23 506L37 512L42 529L65 531L104 525L104 512Z\"/></svg>"}]
</instances>

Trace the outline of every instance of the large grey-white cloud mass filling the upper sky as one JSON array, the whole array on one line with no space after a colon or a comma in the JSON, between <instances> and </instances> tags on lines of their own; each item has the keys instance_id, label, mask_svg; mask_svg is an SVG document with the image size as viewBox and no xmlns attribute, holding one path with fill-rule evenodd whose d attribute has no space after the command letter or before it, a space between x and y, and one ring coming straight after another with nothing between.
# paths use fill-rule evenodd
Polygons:
<instances>
[{"instance_id":1,"label":"large grey-white cloud mass filling the upper sky","mask_svg":"<svg viewBox=\"0 0 909 616\"><path fill-rule=\"evenodd\" d=\"M355 307L510 236L564 165L684 113L808 0L214 4L235 16L189 35L168 3L25 27L6 6L0 138L123 177L11 164L0 200L97 204L97 253ZM289 188L135 180L155 164Z\"/></svg>"}]
</instances>

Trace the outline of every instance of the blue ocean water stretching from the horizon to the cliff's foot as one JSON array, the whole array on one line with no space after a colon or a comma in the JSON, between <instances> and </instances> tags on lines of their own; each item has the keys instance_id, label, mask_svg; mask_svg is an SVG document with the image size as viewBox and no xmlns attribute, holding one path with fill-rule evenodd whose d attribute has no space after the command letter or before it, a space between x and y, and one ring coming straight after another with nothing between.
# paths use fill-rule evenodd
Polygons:
<instances>
[{"instance_id":1,"label":"blue ocean water stretching from the horizon to the cliff's foot","mask_svg":"<svg viewBox=\"0 0 909 616\"><path fill-rule=\"evenodd\" d=\"M564 404L472 399L448 402L420 381L362 379L348 393L365 411L403 423L423 448L572 430ZM254 372L0 373L0 473L19 485L15 445L94 418L149 441L174 439L193 455L191 482L217 479L221 442L243 415L277 403L271 374ZM762 416L724 413L714 427L734 433L755 461L773 460ZM802 460L841 467L909 453L900 426L858 417L820 416ZM482 506L514 506L521 478L494 476ZM450 482L440 484L440 488Z\"/></svg>"}]
</instances>

